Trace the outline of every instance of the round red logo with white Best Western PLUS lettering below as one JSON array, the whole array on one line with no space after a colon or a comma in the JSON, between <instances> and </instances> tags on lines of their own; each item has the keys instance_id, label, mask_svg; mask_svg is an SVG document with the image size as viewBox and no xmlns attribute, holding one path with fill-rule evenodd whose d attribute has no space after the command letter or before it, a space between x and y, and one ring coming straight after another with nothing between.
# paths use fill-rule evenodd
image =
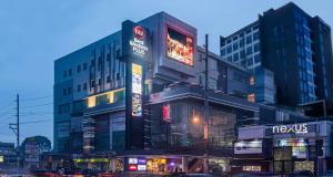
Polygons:
<instances>
[{"instance_id":1,"label":"round red logo with white Best Western PLUS lettering below","mask_svg":"<svg viewBox=\"0 0 333 177\"><path fill-rule=\"evenodd\" d=\"M133 54L143 58L148 52L148 46L144 43L145 32L141 25L137 25L133 28L133 33L134 38L133 40L130 40Z\"/></svg>"}]
</instances>

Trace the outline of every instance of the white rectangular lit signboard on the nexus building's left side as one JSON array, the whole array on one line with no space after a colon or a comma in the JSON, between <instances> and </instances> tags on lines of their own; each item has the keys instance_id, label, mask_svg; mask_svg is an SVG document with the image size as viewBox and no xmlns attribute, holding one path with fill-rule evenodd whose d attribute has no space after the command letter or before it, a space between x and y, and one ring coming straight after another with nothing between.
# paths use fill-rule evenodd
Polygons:
<instances>
[{"instance_id":1,"label":"white rectangular lit signboard on the nexus building's left side","mask_svg":"<svg viewBox=\"0 0 333 177\"><path fill-rule=\"evenodd\" d=\"M234 154L262 154L262 142L236 142L234 143Z\"/></svg>"}]
</instances>

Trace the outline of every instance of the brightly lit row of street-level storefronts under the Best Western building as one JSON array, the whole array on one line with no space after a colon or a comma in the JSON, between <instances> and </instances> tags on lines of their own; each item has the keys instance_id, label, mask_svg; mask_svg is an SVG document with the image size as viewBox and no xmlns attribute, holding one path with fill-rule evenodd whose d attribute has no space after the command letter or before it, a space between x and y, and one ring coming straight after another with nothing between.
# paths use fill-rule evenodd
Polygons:
<instances>
[{"instance_id":1,"label":"brightly lit row of street-level storefronts under the Best Western building","mask_svg":"<svg viewBox=\"0 0 333 177\"><path fill-rule=\"evenodd\" d=\"M203 149L123 150L73 158L75 168L127 174L202 173ZM210 149L210 171L230 173L232 150Z\"/></svg>"}]
</instances>

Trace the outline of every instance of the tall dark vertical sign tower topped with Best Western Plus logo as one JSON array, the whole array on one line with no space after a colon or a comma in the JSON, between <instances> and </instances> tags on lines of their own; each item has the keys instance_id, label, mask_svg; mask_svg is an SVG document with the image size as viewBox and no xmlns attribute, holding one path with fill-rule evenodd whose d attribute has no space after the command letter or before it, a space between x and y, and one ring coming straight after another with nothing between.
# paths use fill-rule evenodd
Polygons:
<instances>
[{"instance_id":1,"label":"tall dark vertical sign tower topped with Best Western Plus logo","mask_svg":"<svg viewBox=\"0 0 333 177\"><path fill-rule=\"evenodd\" d=\"M143 137L143 92L144 66L151 59L151 33L141 24L132 21L122 23L122 56L125 67L125 131L124 148L142 149ZM128 168L128 167L127 167ZM133 167L134 168L134 167ZM135 166L138 168L138 166Z\"/></svg>"}]
</instances>

